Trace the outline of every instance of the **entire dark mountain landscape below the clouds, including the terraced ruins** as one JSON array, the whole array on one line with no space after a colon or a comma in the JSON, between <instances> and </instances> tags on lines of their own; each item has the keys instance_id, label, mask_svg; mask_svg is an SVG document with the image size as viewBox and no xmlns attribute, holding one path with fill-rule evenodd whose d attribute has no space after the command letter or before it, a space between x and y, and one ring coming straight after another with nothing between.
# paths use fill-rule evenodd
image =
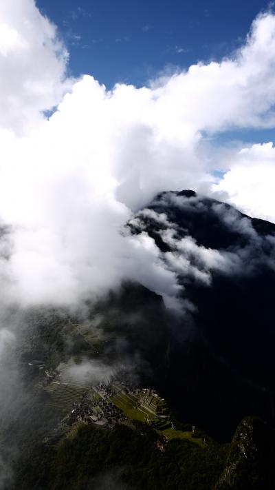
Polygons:
<instances>
[{"instance_id":1,"label":"entire dark mountain landscape below the clouds, including the terraced ruins","mask_svg":"<svg viewBox=\"0 0 275 490\"><path fill-rule=\"evenodd\" d=\"M275 225L185 190L126 233L175 293L126 282L78 312L20 313L0 488L272 490Z\"/></svg>"}]
</instances>

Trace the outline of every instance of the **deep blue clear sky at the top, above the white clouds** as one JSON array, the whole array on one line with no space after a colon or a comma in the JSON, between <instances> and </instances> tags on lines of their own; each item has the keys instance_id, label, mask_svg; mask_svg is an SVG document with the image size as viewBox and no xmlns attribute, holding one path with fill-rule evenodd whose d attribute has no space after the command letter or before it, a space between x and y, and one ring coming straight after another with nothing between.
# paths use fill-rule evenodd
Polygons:
<instances>
[{"instance_id":1,"label":"deep blue clear sky at the top, above the white clouds","mask_svg":"<svg viewBox=\"0 0 275 490\"><path fill-rule=\"evenodd\" d=\"M140 86L162 70L221 59L237 48L263 0L37 0L65 39L72 74L111 88Z\"/></svg>"}]
</instances>

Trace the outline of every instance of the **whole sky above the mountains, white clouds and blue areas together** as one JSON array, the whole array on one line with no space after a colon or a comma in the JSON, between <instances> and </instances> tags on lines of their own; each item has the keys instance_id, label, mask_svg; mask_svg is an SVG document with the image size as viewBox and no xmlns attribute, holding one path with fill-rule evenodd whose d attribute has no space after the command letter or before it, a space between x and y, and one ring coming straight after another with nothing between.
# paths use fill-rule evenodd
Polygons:
<instances>
[{"instance_id":1,"label":"whole sky above the mountains, white clouds and blue areas together","mask_svg":"<svg viewBox=\"0 0 275 490\"><path fill-rule=\"evenodd\" d=\"M158 192L275 222L265 3L0 0L0 73L2 303L72 305L127 279L177 307L176 269L124 229Z\"/></svg>"}]
</instances>

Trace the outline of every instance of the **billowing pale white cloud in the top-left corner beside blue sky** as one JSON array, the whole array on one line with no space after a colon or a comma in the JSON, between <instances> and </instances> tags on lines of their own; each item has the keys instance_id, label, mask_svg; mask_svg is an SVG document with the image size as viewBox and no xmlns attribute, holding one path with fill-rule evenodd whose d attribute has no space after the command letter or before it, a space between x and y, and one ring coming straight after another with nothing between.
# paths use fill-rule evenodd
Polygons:
<instances>
[{"instance_id":1,"label":"billowing pale white cloud in the top-left corner beside blue sky","mask_svg":"<svg viewBox=\"0 0 275 490\"><path fill-rule=\"evenodd\" d=\"M68 59L55 26L33 0L0 2L0 127L17 130L42 121L69 89Z\"/></svg>"}]
</instances>

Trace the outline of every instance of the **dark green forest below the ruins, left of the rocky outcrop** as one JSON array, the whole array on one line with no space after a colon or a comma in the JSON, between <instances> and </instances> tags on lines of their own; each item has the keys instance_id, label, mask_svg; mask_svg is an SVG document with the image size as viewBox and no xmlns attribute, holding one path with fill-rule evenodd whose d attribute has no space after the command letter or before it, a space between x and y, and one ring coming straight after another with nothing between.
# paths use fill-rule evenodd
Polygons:
<instances>
[{"instance_id":1,"label":"dark green forest below the ruins, left of the rocky outcrop","mask_svg":"<svg viewBox=\"0 0 275 490\"><path fill-rule=\"evenodd\" d=\"M25 454L19 487L85 490L92 477L122 468L122 481L133 489L212 490L227 447L213 444L202 449L190 440L173 439L162 452L157 440L157 433L138 421L133 428L117 425L112 431L78 424L69 437L54 438Z\"/></svg>"}]
</instances>

